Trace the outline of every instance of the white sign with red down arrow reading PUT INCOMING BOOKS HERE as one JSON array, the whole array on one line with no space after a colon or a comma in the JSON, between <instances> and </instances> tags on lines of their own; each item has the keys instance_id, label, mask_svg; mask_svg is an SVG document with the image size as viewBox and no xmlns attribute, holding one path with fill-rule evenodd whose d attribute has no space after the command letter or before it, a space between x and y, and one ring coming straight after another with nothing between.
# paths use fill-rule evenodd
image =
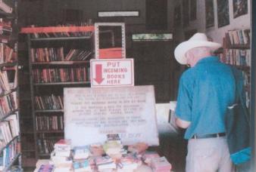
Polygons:
<instances>
[{"instance_id":1,"label":"white sign with red down arrow reading PUT INCOMING BOOKS HERE","mask_svg":"<svg viewBox=\"0 0 256 172\"><path fill-rule=\"evenodd\" d=\"M90 60L91 87L134 86L133 59Z\"/></svg>"}]
</instances>

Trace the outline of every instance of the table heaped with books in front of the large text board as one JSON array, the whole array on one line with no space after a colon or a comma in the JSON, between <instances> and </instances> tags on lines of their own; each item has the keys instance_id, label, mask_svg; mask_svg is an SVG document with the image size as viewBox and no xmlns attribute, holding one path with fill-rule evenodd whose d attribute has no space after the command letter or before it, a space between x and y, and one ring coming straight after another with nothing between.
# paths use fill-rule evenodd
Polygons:
<instances>
[{"instance_id":1,"label":"table heaped with books in front of the large text board","mask_svg":"<svg viewBox=\"0 0 256 172\"><path fill-rule=\"evenodd\" d=\"M148 151L145 143L123 146L118 134L89 146L74 146L70 140L59 140L50 159L39 160L35 172L170 172L171 164L157 152Z\"/></svg>"}]
</instances>

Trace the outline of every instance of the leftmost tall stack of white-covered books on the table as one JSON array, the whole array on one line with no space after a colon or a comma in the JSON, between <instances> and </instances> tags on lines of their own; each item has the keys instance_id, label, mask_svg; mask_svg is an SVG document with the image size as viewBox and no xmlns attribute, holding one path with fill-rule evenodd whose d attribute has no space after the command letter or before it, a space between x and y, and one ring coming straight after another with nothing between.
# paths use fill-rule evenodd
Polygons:
<instances>
[{"instance_id":1,"label":"leftmost tall stack of white-covered books on the table","mask_svg":"<svg viewBox=\"0 0 256 172\"><path fill-rule=\"evenodd\" d=\"M65 172L72 169L73 161L70 157L70 140L59 140L55 143L55 150L51 154L52 164L55 165L55 172Z\"/></svg>"}]
</instances>

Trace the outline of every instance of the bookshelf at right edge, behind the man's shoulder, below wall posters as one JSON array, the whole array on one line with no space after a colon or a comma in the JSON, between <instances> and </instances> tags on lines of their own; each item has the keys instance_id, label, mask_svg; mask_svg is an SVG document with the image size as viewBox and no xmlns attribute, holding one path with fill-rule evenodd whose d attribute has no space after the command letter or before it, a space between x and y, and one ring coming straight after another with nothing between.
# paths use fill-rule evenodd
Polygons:
<instances>
[{"instance_id":1,"label":"bookshelf at right edge, behind the man's shoulder, below wall posters","mask_svg":"<svg viewBox=\"0 0 256 172\"><path fill-rule=\"evenodd\" d=\"M223 38L223 50L220 60L236 69L242 70L246 106L250 104L251 87L251 31L250 29L236 29L226 32Z\"/></svg>"}]
</instances>

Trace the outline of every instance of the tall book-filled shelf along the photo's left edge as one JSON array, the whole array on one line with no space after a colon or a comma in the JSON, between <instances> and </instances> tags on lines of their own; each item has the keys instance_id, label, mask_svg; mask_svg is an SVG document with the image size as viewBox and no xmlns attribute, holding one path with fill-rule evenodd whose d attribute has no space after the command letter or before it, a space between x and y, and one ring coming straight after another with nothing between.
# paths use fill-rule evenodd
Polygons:
<instances>
[{"instance_id":1,"label":"tall book-filled shelf along the photo's left edge","mask_svg":"<svg viewBox=\"0 0 256 172\"><path fill-rule=\"evenodd\" d=\"M21 169L17 1L0 4L6 7L0 5L0 170L8 171L12 167Z\"/></svg>"}]
</instances>

